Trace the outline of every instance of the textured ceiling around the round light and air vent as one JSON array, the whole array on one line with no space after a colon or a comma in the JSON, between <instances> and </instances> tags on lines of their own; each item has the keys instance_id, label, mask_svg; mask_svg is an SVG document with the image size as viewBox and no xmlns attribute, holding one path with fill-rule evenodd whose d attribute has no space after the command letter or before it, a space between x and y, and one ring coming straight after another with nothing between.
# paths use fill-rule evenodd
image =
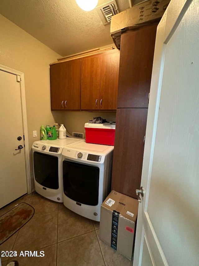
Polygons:
<instances>
[{"instance_id":1,"label":"textured ceiling around the round light and air vent","mask_svg":"<svg viewBox=\"0 0 199 266\"><path fill-rule=\"evenodd\" d=\"M98 6L109 1L99 0ZM121 12L131 1L116 2ZM75 0L0 0L0 13L61 56L113 44L110 24L104 26L95 9L83 11Z\"/></svg>"}]
</instances>

